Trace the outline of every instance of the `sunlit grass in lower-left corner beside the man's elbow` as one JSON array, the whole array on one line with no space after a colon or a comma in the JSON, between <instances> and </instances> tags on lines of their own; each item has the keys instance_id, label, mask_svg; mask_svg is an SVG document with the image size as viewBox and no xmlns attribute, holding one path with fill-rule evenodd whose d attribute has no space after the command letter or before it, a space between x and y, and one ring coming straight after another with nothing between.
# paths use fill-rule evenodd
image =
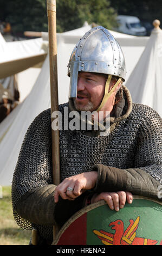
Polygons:
<instances>
[{"instance_id":1,"label":"sunlit grass in lower-left corner beside the man's elbow","mask_svg":"<svg viewBox=\"0 0 162 256\"><path fill-rule=\"evenodd\" d=\"M0 198L0 245L28 245L31 230L22 230L14 221L11 203L11 187L2 188Z\"/></svg>"}]
</instances>

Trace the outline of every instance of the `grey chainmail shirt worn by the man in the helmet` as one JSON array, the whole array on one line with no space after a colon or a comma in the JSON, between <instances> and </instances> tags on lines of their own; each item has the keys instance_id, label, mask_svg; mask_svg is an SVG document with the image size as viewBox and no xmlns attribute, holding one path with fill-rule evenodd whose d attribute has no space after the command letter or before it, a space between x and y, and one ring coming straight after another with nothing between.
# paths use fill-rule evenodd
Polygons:
<instances>
[{"instance_id":1,"label":"grey chainmail shirt worn by the man in the helmet","mask_svg":"<svg viewBox=\"0 0 162 256\"><path fill-rule=\"evenodd\" d=\"M68 103L60 105L60 111ZM105 137L89 137L84 131L60 131L61 181L89 172L94 164L121 169L141 168L162 184L161 118L152 108L133 104L129 116ZM22 229L37 227L51 238L53 228L34 225L15 210L22 196L42 185L52 184L50 109L35 118L25 135L12 182L15 221Z\"/></svg>"}]
</instances>

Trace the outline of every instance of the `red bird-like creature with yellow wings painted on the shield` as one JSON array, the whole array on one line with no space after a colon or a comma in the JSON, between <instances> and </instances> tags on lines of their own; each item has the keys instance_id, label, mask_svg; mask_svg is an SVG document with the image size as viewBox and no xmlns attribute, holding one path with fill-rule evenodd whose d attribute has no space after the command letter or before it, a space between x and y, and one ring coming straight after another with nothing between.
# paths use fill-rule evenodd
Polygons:
<instances>
[{"instance_id":1,"label":"red bird-like creature with yellow wings painted on the shield","mask_svg":"<svg viewBox=\"0 0 162 256\"><path fill-rule=\"evenodd\" d=\"M109 223L109 227L115 230L115 234L108 233L104 230L93 230L93 233L101 239L104 245L156 245L157 240L137 237L136 230L140 221L140 216L135 221L129 220L129 225L124 231L124 223L122 220L116 220Z\"/></svg>"}]
</instances>

